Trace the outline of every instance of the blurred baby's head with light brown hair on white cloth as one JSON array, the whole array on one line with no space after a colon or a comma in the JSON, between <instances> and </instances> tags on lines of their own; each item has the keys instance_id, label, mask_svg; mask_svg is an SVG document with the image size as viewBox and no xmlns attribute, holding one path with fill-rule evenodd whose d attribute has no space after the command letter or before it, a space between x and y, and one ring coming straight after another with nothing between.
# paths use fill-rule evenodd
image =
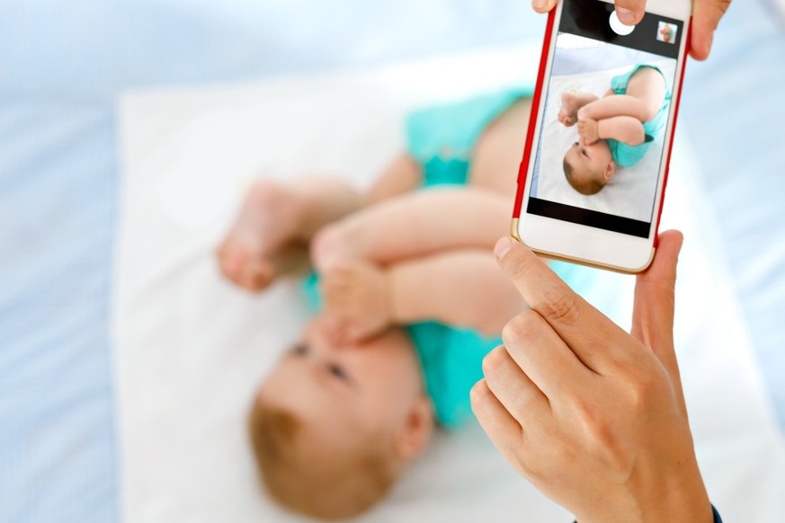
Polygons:
<instances>
[{"instance_id":1,"label":"blurred baby's head with light brown hair on white cloth","mask_svg":"<svg viewBox=\"0 0 785 523\"><path fill-rule=\"evenodd\" d=\"M405 332L342 345L317 318L259 388L249 431L273 498L343 519L381 501L425 448L433 407Z\"/></svg>"}]
</instances>

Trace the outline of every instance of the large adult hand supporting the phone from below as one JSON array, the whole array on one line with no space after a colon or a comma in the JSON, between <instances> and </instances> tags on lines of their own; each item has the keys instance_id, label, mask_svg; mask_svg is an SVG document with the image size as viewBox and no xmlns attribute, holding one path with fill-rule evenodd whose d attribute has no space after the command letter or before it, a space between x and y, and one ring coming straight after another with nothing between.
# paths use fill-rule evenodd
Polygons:
<instances>
[{"instance_id":1,"label":"large adult hand supporting the phone from below","mask_svg":"<svg viewBox=\"0 0 785 523\"><path fill-rule=\"evenodd\" d=\"M515 470L578 521L713 520L673 350L681 245L663 234L628 334L521 244L496 244L531 310L486 356L472 408Z\"/></svg>"}]
</instances>

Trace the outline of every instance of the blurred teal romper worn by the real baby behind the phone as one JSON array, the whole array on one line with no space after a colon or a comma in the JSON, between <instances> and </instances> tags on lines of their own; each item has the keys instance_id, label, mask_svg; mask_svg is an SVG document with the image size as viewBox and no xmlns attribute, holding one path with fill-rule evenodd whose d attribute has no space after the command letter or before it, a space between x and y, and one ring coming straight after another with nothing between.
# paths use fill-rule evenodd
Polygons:
<instances>
[{"instance_id":1,"label":"blurred teal romper worn by the real baby behind the phone","mask_svg":"<svg viewBox=\"0 0 785 523\"><path fill-rule=\"evenodd\" d=\"M469 160L483 129L513 102L531 93L531 89L511 89L410 114L406 146L423 167L423 187L465 184ZM513 182L510 188L513 191ZM512 209L510 212L512 216ZM563 279L578 281L578 286L586 275L584 268L568 263L554 263L551 268ZM316 276L311 276L304 285L312 305L319 303L316 284ZM483 377L482 360L502 343L501 338L437 322L410 324L406 330L422 362L425 386L438 420L447 429L458 428L472 416L469 390Z\"/></svg>"}]
</instances>

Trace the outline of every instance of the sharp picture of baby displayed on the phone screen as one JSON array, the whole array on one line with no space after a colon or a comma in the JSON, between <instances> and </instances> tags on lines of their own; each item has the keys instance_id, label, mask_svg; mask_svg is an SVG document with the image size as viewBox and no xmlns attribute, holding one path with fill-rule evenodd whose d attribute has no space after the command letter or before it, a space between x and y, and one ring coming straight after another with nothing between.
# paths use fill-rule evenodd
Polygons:
<instances>
[{"instance_id":1,"label":"sharp picture of baby displayed on the phone screen","mask_svg":"<svg viewBox=\"0 0 785 523\"><path fill-rule=\"evenodd\" d=\"M559 33L531 197L650 222L675 62Z\"/></svg>"}]
</instances>

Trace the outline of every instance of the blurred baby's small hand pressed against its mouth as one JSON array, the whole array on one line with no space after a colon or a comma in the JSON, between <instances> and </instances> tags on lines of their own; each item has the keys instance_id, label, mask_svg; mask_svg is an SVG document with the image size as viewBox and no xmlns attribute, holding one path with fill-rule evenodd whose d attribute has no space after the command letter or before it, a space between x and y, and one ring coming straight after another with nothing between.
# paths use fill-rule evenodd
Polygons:
<instances>
[{"instance_id":1,"label":"blurred baby's small hand pressed against its mouth","mask_svg":"<svg viewBox=\"0 0 785 523\"><path fill-rule=\"evenodd\" d=\"M390 324L387 273L373 264L351 262L328 270L322 294L342 341L368 339Z\"/></svg>"}]
</instances>

